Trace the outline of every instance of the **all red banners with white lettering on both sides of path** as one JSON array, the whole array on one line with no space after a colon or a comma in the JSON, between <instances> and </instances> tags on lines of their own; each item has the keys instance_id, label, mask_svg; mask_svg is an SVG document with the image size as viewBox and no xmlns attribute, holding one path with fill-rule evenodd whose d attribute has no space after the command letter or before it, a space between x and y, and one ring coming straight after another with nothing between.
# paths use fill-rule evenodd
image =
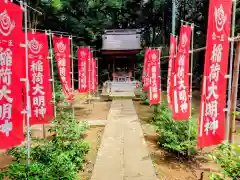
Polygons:
<instances>
[{"instance_id":1,"label":"all red banners with white lettering on both sides of path","mask_svg":"<svg viewBox=\"0 0 240 180\"><path fill-rule=\"evenodd\" d=\"M231 24L230 0L211 0L208 18L207 48L203 77L203 90L199 118L198 147L216 145L225 136L226 74ZM24 49L20 44L22 33L22 9L8 1L0 1L0 149L10 148L24 140L23 121L20 117L25 103L22 94L24 83ZM171 37L168 102L175 120L190 117L189 50L192 29L182 26L175 59L176 39ZM23 36L19 36L22 34ZM49 122L53 118L52 90L48 62L47 36L28 34L29 80L31 124ZM53 37L58 72L65 95L73 99L70 76L70 39ZM172 45L173 44L173 45ZM84 55L84 53L86 53ZM88 48L80 48L79 91L95 91L96 60ZM147 49L143 72L144 89L148 90L150 104L160 101L160 55L161 50ZM19 60L22 63L19 63ZM15 88L18 87L18 88ZM25 93L24 93L25 94ZM25 102L26 102L25 100Z\"/></svg>"}]
</instances>

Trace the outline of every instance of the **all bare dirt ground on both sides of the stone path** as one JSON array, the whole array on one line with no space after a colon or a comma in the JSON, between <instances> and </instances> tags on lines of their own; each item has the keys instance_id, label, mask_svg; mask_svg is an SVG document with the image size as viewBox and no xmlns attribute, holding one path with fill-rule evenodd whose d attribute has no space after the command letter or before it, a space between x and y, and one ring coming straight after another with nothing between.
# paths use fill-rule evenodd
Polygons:
<instances>
[{"instance_id":1,"label":"all bare dirt ground on both sides of the stone path","mask_svg":"<svg viewBox=\"0 0 240 180\"><path fill-rule=\"evenodd\" d=\"M162 99L166 99L163 95ZM198 103L197 103L198 104ZM81 108L75 109L76 118L81 120L106 120L110 109L111 102L100 102L98 100L91 101L90 104L83 104ZM156 169L159 180L198 180L200 177L200 167L213 168L212 164L208 164L203 160L202 156L197 157L194 161L188 162L175 155L168 153L157 145L157 134L149 120L152 118L152 109L150 106L142 105L140 102L135 102L136 111L141 120L142 129L145 135L145 140L149 148L149 152ZM195 107L196 111L198 107ZM196 114L196 116L198 116ZM36 127L33 133L37 137L42 137L42 126ZM240 129L240 126L238 126ZM94 163L97 156L98 148L101 144L104 127L92 127L86 131L85 140L90 145L90 152L86 157L86 165L84 171L79 172L79 177L83 180L90 180L93 171ZM239 131L240 133L240 131ZM212 151L207 149L205 151ZM0 168L5 168L11 163L11 158L6 156L4 151L0 151ZM209 173L204 173L204 180L208 180Z\"/></svg>"}]
</instances>

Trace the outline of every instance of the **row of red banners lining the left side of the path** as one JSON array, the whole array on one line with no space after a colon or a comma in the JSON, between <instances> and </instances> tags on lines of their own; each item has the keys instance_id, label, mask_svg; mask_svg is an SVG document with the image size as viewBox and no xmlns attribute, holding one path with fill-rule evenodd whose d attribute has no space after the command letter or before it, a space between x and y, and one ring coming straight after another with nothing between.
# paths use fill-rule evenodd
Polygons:
<instances>
[{"instance_id":1,"label":"row of red banners lining the left side of the path","mask_svg":"<svg viewBox=\"0 0 240 180\"><path fill-rule=\"evenodd\" d=\"M47 124L54 118L52 84L49 65L48 36L46 33L28 33L28 77L25 63L25 34L22 32L22 8L10 1L0 0L0 149L17 146L24 141L23 110L28 101L30 125ZM19 36L21 34L22 36ZM57 69L66 99L73 100L71 84L70 38L53 36ZM26 43L25 43L26 44ZM79 48L81 54L83 48ZM86 48L88 49L88 48ZM88 49L85 62L88 72L86 87L82 89L83 70L79 65L79 91L95 92L97 89L97 64ZM83 59L79 56L79 63ZM26 84L29 97L26 97Z\"/></svg>"}]
</instances>

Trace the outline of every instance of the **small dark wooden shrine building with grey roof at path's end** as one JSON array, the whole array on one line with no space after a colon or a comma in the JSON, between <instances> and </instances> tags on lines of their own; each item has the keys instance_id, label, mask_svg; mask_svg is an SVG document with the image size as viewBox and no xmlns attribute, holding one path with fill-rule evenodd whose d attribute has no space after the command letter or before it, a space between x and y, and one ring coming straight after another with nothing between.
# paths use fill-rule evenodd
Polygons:
<instances>
[{"instance_id":1,"label":"small dark wooden shrine building with grey roof at path's end","mask_svg":"<svg viewBox=\"0 0 240 180\"><path fill-rule=\"evenodd\" d=\"M141 50L141 34L138 29L111 29L102 36L102 50L105 67L110 81L135 81L137 54Z\"/></svg>"}]
</instances>

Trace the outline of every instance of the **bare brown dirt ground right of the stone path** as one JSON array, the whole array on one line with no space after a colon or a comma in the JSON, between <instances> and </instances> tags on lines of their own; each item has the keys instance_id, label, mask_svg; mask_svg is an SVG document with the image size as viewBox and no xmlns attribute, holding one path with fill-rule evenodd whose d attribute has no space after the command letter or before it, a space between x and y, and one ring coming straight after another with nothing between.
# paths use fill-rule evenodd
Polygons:
<instances>
[{"instance_id":1,"label":"bare brown dirt ground right of the stone path","mask_svg":"<svg viewBox=\"0 0 240 180\"><path fill-rule=\"evenodd\" d=\"M203 156L198 156L192 161L176 157L157 145L158 135L154 127L150 124L153 109L150 106L135 102L136 111L141 120L143 133L149 152L160 180L198 180L202 170L200 167L216 169L212 164L208 164ZM204 180L208 180L209 173L204 172Z\"/></svg>"}]
</instances>

